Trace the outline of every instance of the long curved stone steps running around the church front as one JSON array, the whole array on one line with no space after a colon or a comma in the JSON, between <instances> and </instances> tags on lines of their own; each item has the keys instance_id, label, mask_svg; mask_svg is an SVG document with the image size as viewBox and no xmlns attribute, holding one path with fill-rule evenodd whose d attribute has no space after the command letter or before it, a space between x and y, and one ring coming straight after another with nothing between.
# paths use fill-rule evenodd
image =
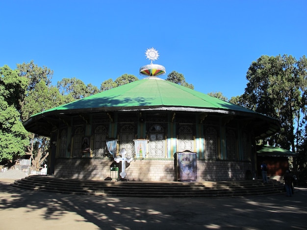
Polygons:
<instances>
[{"instance_id":1,"label":"long curved stone steps running around the church front","mask_svg":"<svg viewBox=\"0 0 307 230\"><path fill-rule=\"evenodd\" d=\"M13 186L58 193L122 197L239 197L283 193L283 184L269 180L225 182L134 182L91 181L34 175L15 181Z\"/></svg>"}]
</instances>

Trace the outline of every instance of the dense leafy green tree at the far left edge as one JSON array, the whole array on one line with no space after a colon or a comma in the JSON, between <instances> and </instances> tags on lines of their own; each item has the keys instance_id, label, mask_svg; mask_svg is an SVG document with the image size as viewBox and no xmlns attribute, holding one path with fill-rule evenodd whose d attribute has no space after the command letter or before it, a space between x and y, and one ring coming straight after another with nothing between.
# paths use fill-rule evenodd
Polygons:
<instances>
[{"instance_id":1,"label":"dense leafy green tree at the far left edge","mask_svg":"<svg viewBox=\"0 0 307 230\"><path fill-rule=\"evenodd\" d=\"M8 66L0 68L0 161L15 160L25 154L29 143L27 132L21 122L21 101L27 80L18 76L17 70Z\"/></svg>"}]
</instances>

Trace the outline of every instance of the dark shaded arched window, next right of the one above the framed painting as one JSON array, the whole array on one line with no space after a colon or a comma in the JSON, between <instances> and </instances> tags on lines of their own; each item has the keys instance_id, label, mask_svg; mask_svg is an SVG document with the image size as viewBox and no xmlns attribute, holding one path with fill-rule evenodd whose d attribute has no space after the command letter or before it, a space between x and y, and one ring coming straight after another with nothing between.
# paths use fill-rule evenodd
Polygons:
<instances>
[{"instance_id":1,"label":"dark shaded arched window, next right of the one above the framed painting","mask_svg":"<svg viewBox=\"0 0 307 230\"><path fill-rule=\"evenodd\" d=\"M217 132L212 126L205 129L205 153L206 159L216 159L217 157Z\"/></svg>"}]
</instances>

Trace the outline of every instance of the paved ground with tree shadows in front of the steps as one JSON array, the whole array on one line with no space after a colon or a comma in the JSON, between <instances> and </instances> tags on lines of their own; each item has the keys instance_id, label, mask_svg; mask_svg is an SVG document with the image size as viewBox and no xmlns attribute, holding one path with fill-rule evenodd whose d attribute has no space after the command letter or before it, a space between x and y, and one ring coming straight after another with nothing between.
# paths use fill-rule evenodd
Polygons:
<instances>
[{"instance_id":1,"label":"paved ground with tree shadows in front of the steps","mask_svg":"<svg viewBox=\"0 0 307 230\"><path fill-rule=\"evenodd\" d=\"M32 191L0 179L3 230L306 230L307 190L294 196L103 198Z\"/></svg>"}]
</instances>

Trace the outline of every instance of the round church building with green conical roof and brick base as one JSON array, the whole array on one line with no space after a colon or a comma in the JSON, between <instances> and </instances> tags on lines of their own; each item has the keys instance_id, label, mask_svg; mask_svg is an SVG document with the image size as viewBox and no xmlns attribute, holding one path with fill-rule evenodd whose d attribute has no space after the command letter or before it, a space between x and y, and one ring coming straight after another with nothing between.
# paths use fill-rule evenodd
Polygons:
<instances>
[{"instance_id":1,"label":"round church building with green conical roof and brick base","mask_svg":"<svg viewBox=\"0 0 307 230\"><path fill-rule=\"evenodd\" d=\"M279 130L261 115L163 80L142 80L31 116L50 137L48 174L85 180L232 181L256 175L256 140Z\"/></svg>"}]
</instances>

